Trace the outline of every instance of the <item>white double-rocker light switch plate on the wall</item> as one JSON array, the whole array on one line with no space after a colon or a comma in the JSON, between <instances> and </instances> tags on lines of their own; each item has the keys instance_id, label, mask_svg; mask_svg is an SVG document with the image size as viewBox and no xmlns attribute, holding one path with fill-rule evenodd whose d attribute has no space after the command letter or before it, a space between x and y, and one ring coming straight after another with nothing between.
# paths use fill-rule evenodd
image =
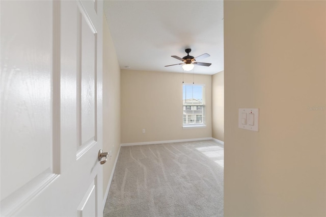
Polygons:
<instances>
[{"instance_id":1,"label":"white double-rocker light switch plate on the wall","mask_svg":"<svg viewBox=\"0 0 326 217\"><path fill-rule=\"evenodd\" d=\"M247 121L242 121L243 113L247 114ZM250 121L248 120L250 118ZM252 122L253 118L253 122ZM258 131L259 127L259 108L239 108L238 114L238 126L241 129L248 129L253 131Z\"/></svg>"}]
</instances>

